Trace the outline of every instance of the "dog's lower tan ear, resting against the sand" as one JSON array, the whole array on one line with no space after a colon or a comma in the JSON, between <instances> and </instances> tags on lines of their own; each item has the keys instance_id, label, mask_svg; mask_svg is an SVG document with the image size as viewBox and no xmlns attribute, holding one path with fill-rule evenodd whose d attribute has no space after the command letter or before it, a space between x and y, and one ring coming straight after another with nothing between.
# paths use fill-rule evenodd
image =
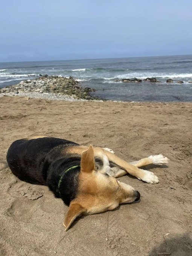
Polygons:
<instances>
[{"instance_id":1,"label":"dog's lower tan ear, resting against the sand","mask_svg":"<svg viewBox=\"0 0 192 256\"><path fill-rule=\"evenodd\" d=\"M86 212L86 209L82 207L78 203L72 203L69 206L69 210L67 211L67 214L63 220L63 225L66 228L65 231L69 229L73 221L80 216L82 213Z\"/></svg>"}]
</instances>

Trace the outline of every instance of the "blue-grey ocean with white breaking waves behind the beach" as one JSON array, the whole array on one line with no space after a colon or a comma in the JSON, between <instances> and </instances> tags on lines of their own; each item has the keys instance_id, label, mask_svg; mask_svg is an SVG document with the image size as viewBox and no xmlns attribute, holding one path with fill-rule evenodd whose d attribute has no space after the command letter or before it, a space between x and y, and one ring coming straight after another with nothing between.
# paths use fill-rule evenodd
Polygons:
<instances>
[{"instance_id":1,"label":"blue-grey ocean with white breaking waves behind the beach","mask_svg":"<svg viewBox=\"0 0 192 256\"><path fill-rule=\"evenodd\" d=\"M192 102L192 55L0 62L0 87L42 75L73 76L92 93L113 101ZM155 77L159 83L122 82L123 78ZM174 83L166 83L167 79ZM117 81L118 80L118 81ZM183 84L178 84L183 81Z\"/></svg>"}]
</instances>

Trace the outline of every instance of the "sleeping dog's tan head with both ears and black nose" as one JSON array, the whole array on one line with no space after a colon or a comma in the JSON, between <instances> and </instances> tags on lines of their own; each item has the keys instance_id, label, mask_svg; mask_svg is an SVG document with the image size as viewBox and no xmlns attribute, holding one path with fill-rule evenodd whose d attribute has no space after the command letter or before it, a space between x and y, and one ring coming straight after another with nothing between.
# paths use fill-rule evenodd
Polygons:
<instances>
[{"instance_id":1,"label":"sleeping dog's tan head with both ears and black nose","mask_svg":"<svg viewBox=\"0 0 192 256\"><path fill-rule=\"evenodd\" d=\"M66 231L79 215L113 210L119 204L139 200L140 194L133 187L96 170L93 146L82 152L78 194L70 203L63 225Z\"/></svg>"}]
</instances>

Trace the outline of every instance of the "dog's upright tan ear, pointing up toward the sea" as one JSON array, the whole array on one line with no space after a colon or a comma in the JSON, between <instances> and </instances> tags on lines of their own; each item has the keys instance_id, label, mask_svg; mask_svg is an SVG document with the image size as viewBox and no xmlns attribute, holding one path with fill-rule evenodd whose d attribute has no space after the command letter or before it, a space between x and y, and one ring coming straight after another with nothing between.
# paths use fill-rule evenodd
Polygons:
<instances>
[{"instance_id":1,"label":"dog's upright tan ear, pointing up toward the sea","mask_svg":"<svg viewBox=\"0 0 192 256\"><path fill-rule=\"evenodd\" d=\"M83 151L81 154L81 171L91 172L94 169L95 169L94 150L93 150L93 146L90 145L89 148Z\"/></svg>"}]
</instances>

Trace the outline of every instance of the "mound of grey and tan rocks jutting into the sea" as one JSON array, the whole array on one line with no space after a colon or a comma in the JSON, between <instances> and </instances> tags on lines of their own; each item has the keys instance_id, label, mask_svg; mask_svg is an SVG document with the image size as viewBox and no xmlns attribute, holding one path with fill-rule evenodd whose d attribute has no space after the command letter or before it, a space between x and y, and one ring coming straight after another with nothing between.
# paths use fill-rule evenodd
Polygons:
<instances>
[{"instance_id":1,"label":"mound of grey and tan rocks jutting into the sea","mask_svg":"<svg viewBox=\"0 0 192 256\"><path fill-rule=\"evenodd\" d=\"M63 76L40 76L37 79L21 81L19 84L10 85L0 89L0 93L54 93L65 96L73 96L75 99L95 99L89 93L94 91L91 88L83 88L78 81L72 77Z\"/></svg>"}]
</instances>

